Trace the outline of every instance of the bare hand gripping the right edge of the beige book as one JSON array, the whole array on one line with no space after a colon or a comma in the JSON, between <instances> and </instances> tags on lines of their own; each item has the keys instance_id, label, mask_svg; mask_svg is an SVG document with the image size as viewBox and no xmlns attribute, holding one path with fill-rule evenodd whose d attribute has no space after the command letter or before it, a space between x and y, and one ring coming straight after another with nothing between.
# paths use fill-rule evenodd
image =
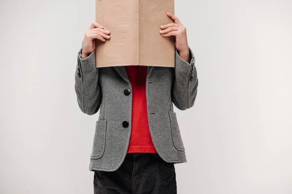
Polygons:
<instances>
[{"instance_id":1,"label":"bare hand gripping the right edge of the beige book","mask_svg":"<svg viewBox=\"0 0 292 194\"><path fill-rule=\"evenodd\" d=\"M175 36L175 46L181 53L188 53L189 47L187 44L186 28L180 22L179 18L169 12L166 13L174 23L169 23L160 26L162 29L159 31L162 36Z\"/></svg>"}]
</instances>

